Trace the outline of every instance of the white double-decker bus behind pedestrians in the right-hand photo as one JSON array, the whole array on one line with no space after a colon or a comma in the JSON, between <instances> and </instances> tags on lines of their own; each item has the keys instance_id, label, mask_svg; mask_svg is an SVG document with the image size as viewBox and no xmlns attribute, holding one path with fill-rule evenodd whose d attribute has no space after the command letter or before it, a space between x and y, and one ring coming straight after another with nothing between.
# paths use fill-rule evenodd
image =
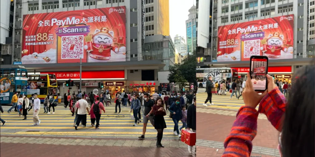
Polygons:
<instances>
[{"instance_id":1,"label":"white double-decker bus behind pedestrians in the right-hand photo","mask_svg":"<svg viewBox=\"0 0 315 157\"><path fill-rule=\"evenodd\" d=\"M223 79L231 82L231 80L238 79L238 72L232 68L197 68L196 78L198 87L206 87L206 82L209 76L212 76L213 83L220 82Z\"/></svg>"}]
</instances>

